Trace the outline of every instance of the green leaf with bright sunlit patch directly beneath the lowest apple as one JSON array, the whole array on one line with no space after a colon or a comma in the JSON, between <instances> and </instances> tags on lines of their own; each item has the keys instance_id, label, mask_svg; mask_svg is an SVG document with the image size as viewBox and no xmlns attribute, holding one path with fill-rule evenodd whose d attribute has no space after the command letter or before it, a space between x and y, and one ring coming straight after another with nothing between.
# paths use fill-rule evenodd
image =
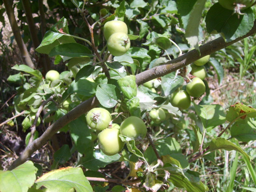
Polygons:
<instances>
[{"instance_id":1,"label":"green leaf with bright sunlit patch directly beneath the lowest apple","mask_svg":"<svg viewBox=\"0 0 256 192\"><path fill-rule=\"evenodd\" d=\"M112 156L105 155L100 150L88 150L86 156L82 158L82 165L92 171L97 171L99 168L104 168L106 165L116 162L120 159L119 154Z\"/></svg>"}]
</instances>

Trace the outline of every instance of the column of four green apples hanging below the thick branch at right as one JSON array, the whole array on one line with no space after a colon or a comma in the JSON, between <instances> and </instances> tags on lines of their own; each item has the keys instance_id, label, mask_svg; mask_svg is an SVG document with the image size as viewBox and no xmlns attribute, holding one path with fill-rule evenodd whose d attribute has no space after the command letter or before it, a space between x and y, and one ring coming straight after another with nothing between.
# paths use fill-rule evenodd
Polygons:
<instances>
[{"instance_id":1,"label":"column of four green apples hanging below the thick branch at right","mask_svg":"<svg viewBox=\"0 0 256 192\"><path fill-rule=\"evenodd\" d=\"M194 64L191 65L192 70L190 73L195 77L186 84L186 90L179 90L171 94L170 103L172 106L187 109L191 104L190 96L200 97L204 94L206 87L203 80L206 78L206 70L203 65L206 64L209 59L210 55L207 55L196 60Z\"/></svg>"}]
</instances>

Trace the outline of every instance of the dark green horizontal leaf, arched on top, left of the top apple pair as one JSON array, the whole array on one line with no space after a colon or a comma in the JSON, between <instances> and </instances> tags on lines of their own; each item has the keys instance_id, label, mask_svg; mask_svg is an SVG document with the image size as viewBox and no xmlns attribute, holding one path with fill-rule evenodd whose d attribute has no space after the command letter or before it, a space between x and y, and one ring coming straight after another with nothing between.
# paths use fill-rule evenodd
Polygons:
<instances>
[{"instance_id":1,"label":"dark green horizontal leaf, arched on top, left of the top apple pair","mask_svg":"<svg viewBox=\"0 0 256 192\"><path fill-rule=\"evenodd\" d=\"M50 57L61 55L66 57L93 57L92 52L86 46L79 43L65 43L52 48L49 53Z\"/></svg>"}]
</instances>

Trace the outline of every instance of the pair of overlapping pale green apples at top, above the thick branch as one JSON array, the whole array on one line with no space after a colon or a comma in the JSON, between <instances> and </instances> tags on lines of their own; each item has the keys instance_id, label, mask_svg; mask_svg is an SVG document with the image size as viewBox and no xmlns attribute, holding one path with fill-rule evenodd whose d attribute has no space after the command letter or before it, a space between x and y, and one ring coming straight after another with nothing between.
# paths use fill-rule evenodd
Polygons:
<instances>
[{"instance_id":1,"label":"pair of overlapping pale green apples at top, above the thick branch","mask_svg":"<svg viewBox=\"0 0 256 192\"><path fill-rule=\"evenodd\" d=\"M128 28L125 22L117 20L108 21L103 28L107 40L108 51L113 56L122 56L130 48Z\"/></svg>"}]
</instances>

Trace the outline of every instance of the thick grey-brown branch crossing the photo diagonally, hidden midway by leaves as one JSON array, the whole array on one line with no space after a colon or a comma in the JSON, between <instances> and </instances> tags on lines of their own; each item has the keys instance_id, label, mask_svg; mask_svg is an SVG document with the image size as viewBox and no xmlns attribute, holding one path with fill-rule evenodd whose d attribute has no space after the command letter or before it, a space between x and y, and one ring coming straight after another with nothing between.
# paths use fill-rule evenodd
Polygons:
<instances>
[{"instance_id":1,"label":"thick grey-brown branch crossing the photo diagonally, hidden midway by leaves","mask_svg":"<svg viewBox=\"0 0 256 192\"><path fill-rule=\"evenodd\" d=\"M202 58L208 54L212 54L218 50L221 50L255 33L256 33L256 21L254 21L254 26L252 30L248 32L248 34L240 38L237 38L232 42L225 42L224 39L220 37L220 38L217 38L216 40L212 40L211 42L208 42L200 46L201 56L199 56L196 50L192 50L174 60L166 62L166 64L164 65L161 65L161 66L152 68L150 70L141 72L140 74L137 74L136 84L141 85L154 78L161 77L171 72L174 72L175 70L178 70L198 60L199 58ZM54 122L54 124L52 124L50 127L46 129L46 131L44 132L44 134L42 134L42 136L34 140L32 144L26 147L26 149L22 152L20 157L16 161L14 161L14 163L9 167L9 170L12 170L13 168L19 166L20 164L28 160L28 158L30 158L33 152L40 149L58 130L60 130L60 128L62 128L72 120L75 120L82 114L85 114L86 112L88 112L90 109L94 108L98 104L99 102L97 98L94 96L93 98L90 98L82 102L76 108L68 112L65 116L63 116L62 118Z\"/></svg>"}]
</instances>

